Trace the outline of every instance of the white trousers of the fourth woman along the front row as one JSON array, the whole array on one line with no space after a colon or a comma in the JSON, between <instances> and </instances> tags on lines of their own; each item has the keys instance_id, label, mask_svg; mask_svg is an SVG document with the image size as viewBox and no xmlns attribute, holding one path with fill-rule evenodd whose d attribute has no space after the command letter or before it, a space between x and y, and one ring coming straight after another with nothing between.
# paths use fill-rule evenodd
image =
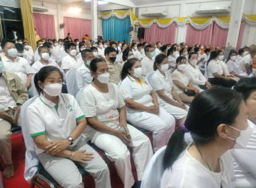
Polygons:
<instances>
[{"instance_id":1,"label":"white trousers of the fourth woman along the front row","mask_svg":"<svg viewBox=\"0 0 256 188\"><path fill-rule=\"evenodd\" d=\"M186 105L187 110L182 109L181 107L170 105L169 103L161 103L159 106L165 109L171 115L173 115L174 118L178 120L179 126L184 124L187 118L187 111L189 110L189 106Z\"/></svg>"}]
</instances>

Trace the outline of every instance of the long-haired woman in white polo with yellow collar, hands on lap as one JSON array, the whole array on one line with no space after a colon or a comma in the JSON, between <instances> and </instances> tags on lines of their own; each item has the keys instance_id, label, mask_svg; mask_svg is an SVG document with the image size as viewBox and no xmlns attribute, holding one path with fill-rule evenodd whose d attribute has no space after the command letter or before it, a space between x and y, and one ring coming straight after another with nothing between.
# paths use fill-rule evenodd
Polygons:
<instances>
[{"instance_id":1,"label":"long-haired woman in white polo with yellow collar, hands on lap","mask_svg":"<svg viewBox=\"0 0 256 188\"><path fill-rule=\"evenodd\" d=\"M175 119L159 107L156 93L141 74L139 60L127 60L121 73L119 91L125 101L128 122L153 133L153 147L156 152L162 146L166 146L174 132Z\"/></svg>"}]
</instances>

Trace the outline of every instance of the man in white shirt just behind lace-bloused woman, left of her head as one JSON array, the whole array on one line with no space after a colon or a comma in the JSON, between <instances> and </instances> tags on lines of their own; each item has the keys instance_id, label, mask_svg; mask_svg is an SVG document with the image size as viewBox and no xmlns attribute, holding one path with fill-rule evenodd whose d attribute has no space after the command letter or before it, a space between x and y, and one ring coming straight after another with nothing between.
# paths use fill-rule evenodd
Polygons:
<instances>
[{"instance_id":1,"label":"man in white shirt just behind lace-bloused woman, left of her head","mask_svg":"<svg viewBox=\"0 0 256 188\"><path fill-rule=\"evenodd\" d=\"M81 52L84 63L76 70L76 83L77 88L82 89L92 82L92 76L90 71L90 62L95 58L92 50L86 49Z\"/></svg>"}]
</instances>

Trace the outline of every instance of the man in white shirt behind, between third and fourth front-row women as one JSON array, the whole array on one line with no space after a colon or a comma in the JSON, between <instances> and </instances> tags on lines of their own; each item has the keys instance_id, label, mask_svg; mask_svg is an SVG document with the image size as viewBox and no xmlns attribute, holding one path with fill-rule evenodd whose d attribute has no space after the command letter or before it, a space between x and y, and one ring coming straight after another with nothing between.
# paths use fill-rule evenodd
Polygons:
<instances>
[{"instance_id":1,"label":"man in white shirt behind, between third and fourth front-row women","mask_svg":"<svg viewBox=\"0 0 256 188\"><path fill-rule=\"evenodd\" d=\"M145 51L146 57L144 57L141 60L141 68L143 71L142 75L146 77L150 73L154 73L153 65L155 61L155 58L154 58L155 53L151 45L146 46L144 51Z\"/></svg>"}]
</instances>

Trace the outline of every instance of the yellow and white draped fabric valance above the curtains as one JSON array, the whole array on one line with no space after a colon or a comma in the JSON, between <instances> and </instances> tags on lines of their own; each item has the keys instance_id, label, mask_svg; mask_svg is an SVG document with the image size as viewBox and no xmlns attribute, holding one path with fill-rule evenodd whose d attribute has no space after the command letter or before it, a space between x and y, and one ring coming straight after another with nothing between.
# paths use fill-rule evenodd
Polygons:
<instances>
[{"instance_id":1,"label":"yellow and white draped fabric valance above the curtains","mask_svg":"<svg viewBox=\"0 0 256 188\"><path fill-rule=\"evenodd\" d=\"M116 16L119 19L125 19L130 16L131 26L139 24L142 28L150 28L153 23L156 23L160 28L167 28L173 22L176 22L177 26L184 27L185 24L191 24L196 30L204 30L216 22L216 24L222 29L228 29L230 23L230 15L223 16L209 16L209 17L168 17L168 18L137 18L131 9L127 10L112 10L99 12L98 17L102 19L109 19L111 16ZM256 14L244 15L243 19L250 25L256 26Z\"/></svg>"}]
</instances>

